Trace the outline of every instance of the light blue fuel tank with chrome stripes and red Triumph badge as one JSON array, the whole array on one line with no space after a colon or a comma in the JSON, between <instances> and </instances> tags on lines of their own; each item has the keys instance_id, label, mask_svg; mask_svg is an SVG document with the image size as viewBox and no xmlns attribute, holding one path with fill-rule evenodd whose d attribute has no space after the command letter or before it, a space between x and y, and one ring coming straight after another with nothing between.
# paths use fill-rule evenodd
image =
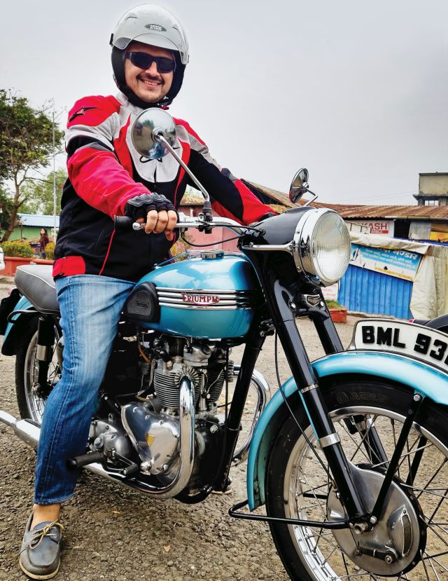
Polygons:
<instances>
[{"instance_id":1,"label":"light blue fuel tank with chrome stripes and red Triumph badge","mask_svg":"<svg viewBox=\"0 0 448 581\"><path fill-rule=\"evenodd\" d=\"M145 282L155 286L160 316L153 322L139 320L140 327L198 339L230 339L248 332L258 282L242 254L201 252L155 268L134 291Z\"/></svg>"}]
</instances>

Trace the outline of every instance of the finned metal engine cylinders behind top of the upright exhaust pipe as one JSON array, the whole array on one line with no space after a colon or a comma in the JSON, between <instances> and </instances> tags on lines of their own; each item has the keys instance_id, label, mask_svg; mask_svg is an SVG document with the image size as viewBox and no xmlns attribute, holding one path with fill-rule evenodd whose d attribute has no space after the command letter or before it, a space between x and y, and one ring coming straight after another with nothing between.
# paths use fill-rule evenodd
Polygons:
<instances>
[{"instance_id":1,"label":"finned metal engine cylinders behind top of the upright exhaust pipe","mask_svg":"<svg viewBox=\"0 0 448 581\"><path fill-rule=\"evenodd\" d=\"M160 366L154 370L154 387L162 407L179 408L179 388L184 376L191 380L197 404L204 388L204 374L181 364L174 364L172 369Z\"/></svg>"}]
</instances>

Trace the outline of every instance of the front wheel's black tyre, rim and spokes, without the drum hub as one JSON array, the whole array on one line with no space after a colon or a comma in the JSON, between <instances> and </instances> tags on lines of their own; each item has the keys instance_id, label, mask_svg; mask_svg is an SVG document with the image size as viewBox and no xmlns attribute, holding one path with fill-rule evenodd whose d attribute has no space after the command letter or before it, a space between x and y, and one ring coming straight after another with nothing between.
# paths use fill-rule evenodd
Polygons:
<instances>
[{"instance_id":1,"label":"front wheel's black tyre, rim and spokes, without the drum hub","mask_svg":"<svg viewBox=\"0 0 448 581\"><path fill-rule=\"evenodd\" d=\"M349 432L346 420L364 416L374 422L387 457L391 458L405 419L412 391L397 383L350 378L323 390L335 428L348 460L355 465L376 466L368 437ZM328 467L302 406L295 417L319 458ZM425 400L416 417L395 474L406 483L409 467L421 453L412 486L403 486L418 500L426 526L426 547L419 537L416 566L409 572L385 576L353 563L342 552L334 533L321 528L270 524L277 552L288 575L295 581L440 581L448 574L448 409ZM365 432L364 432L365 434ZM423 437L423 439L422 439ZM398 480L397 480L398 481ZM327 516L330 484L296 421L288 416L269 453L266 474L266 508L272 517L322 521ZM351 534L351 533L350 533ZM421 553L420 553L421 551ZM423 560L421 560L421 557ZM365 562L365 561L364 561Z\"/></svg>"}]
</instances>

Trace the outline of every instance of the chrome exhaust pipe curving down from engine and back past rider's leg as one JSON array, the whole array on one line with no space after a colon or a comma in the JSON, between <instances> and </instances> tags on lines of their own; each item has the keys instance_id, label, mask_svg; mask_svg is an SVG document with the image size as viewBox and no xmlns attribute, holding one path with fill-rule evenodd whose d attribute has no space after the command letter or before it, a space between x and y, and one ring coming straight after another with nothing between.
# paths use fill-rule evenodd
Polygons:
<instances>
[{"instance_id":1,"label":"chrome exhaust pipe curving down from engine and back past rider's leg","mask_svg":"<svg viewBox=\"0 0 448 581\"><path fill-rule=\"evenodd\" d=\"M85 469L122 486L132 488L132 490L158 496L158 498L172 498L178 495L187 486L195 462L195 393L190 378L187 376L183 377L180 385L179 411L181 423L180 462L178 472L169 484L158 487L141 481L138 477L130 480L124 474L107 472L99 463L88 464ZM34 425L31 420L18 420L10 413L0 410L0 422L13 428L20 439L37 449L41 428Z\"/></svg>"}]
</instances>

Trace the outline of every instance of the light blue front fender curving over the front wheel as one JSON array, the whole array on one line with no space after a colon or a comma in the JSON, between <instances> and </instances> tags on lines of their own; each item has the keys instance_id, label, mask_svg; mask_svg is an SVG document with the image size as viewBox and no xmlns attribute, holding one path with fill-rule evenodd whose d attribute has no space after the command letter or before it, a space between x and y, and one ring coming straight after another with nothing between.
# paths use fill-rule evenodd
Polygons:
<instances>
[{"instance_id":1,"label":"light blue front fender curving over the front wheel","mask_svg":"<svg viewBox=\"0 0 448 581\"><path fill-rule=\"evenodd\" d=\"M448 375L410 357L378 351L345 351L322 357L312 365L318 378L363 374L390 379L430 397L437 404L448 405ZM292 377L283 383L283 393L286 397L297 393L297 385ZM265 504L267 455L285 413L286 404L280 390L277 390L263 411L251 442L247 466L250 510Z\"/></svg>"}]
</instances>

